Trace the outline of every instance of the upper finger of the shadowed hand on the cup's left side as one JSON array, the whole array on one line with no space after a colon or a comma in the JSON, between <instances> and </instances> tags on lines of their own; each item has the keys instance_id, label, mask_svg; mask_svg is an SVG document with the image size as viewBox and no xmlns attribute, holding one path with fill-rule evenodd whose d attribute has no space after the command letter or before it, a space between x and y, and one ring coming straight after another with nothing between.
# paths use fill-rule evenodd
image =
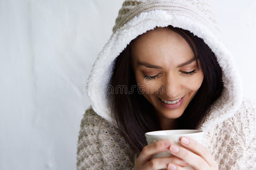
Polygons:
<instances>
[{"instance_id":1,"label":"upper finger of the shadowed hand on the cup's left side","mask_svg":"<svg viewBox=\"0 0 256 170\"><path fill-rule=\"evenodd\" d=\"M171 144L172 142L169 140L160 140L144 146L137 158L138 162L148 162L154 154L168 151Z\"/></svg>"}]
</instances>

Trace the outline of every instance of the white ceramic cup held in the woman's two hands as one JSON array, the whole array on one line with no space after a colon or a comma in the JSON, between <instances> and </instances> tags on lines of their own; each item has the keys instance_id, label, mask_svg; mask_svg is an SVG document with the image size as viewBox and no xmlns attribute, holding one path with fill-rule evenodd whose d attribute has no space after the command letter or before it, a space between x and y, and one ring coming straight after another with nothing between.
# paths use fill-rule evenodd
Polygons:
<instances>
[{"instance_id":1,"label":"white ceramic cup held in the woman's two hands","mask_svg":"<svg viewBox=\"0 0 256 170\"><path fill-rule=\"evenodd\" d=\"M154 143L159 140L170 140L173 144L182 146L180 144L180 140L179 140L181 137L188 136L189 138L192 138L202 144L203 134L204 134L204 131L201 131L201 130L167 130L167 131L147 132L147 133L145 133L145 136L146 136L148 144ZM169 156L172 156L170 151L159 152L159 153L153 155L151 159L169 157ZM184 168L186 170L194 170L193 167L191 167L189 165L184 166Z\"/></svg>"}]
</instances>

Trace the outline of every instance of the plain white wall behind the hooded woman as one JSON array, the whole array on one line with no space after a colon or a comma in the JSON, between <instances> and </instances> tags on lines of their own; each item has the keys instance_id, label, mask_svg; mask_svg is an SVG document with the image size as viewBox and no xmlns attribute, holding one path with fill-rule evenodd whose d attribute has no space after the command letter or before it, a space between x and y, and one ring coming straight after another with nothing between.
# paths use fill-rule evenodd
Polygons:
<instances>
[{"instance_id":1,"label":"plain white wall behind the hooded woman","mask_svg":"<svg viewBox=\"0 0 256 170\"><path fill-rule=\"evenodd\" d=\"M208 0L256 102L256 1ZM76 169L79 88L122 0L0 0L0 169Z\"/></svg>"}]
</instances>

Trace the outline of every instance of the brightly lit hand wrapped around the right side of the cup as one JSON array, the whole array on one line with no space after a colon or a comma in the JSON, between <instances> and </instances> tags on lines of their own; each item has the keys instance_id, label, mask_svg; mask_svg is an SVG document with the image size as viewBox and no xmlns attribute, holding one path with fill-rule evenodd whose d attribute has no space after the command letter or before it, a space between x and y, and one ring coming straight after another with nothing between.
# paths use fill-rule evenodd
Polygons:
<instances>
[{"instance_id":1,"label":"brightly lit hand wrapped around the right side of the cup","mask_svg":"<svg viewBox=\"0 0 256 170\"><path fill-rule=\"evenodd\" d=\"M188 139L188 143L186 142L186 138ZM184 147L180 147L174 144L170 146L170 152L173 155L187 162L196 170L219 170L217 161L213 159L212 155L207 150L207 148L204 147L204 145L201 145L189 137L180 138L180 144ZM176 166L176 169L171 168L174 166ZM168 164L167 167L170 170L185 170L183 167L172 163Z\"/></svg>"}]
</instances>

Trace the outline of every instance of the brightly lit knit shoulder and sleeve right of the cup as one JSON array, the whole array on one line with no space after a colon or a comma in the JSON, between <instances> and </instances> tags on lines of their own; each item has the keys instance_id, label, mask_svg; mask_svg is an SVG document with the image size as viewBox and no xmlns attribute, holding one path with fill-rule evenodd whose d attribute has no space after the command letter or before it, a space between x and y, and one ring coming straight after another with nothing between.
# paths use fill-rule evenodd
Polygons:
<instances>
[{"instance_id":1,"label":"brightly lit knit shoulder and sleeve right of the cup","mask_svg":"<svg viewBox=\"0 0 256 170\"><path fill-rule=\"evenodd\" d=\"M211 128L208 143L220 169L251 169L256 161L256 105L243 98L232 117Z\"/></svg>"}]
</instances>

